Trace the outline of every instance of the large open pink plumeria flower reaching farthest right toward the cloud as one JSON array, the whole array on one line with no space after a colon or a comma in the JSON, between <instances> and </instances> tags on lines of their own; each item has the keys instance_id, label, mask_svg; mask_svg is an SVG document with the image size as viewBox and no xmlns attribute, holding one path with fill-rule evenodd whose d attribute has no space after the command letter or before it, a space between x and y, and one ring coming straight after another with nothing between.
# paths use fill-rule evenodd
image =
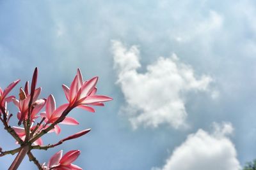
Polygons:
<instances>
[{"instance_id":1,"label":"large open pink plumeria flower reaching farthest right toward the cloud","mask_svg":"<svg viewBox=\"0 0 256 170\"><path fill-rule=\"evenodd\" d=\"M113 100L108 96L96 95L96 84L98 77L94 77L88 81L83 81L83 76L80 69L77 69L77 74L70 85L70 89L66 85L62 85L65 96L71 108L82 108L86 111L95 112L95 110L87 105L104 106L102 102Z\"/></svg>"}]
</instances>

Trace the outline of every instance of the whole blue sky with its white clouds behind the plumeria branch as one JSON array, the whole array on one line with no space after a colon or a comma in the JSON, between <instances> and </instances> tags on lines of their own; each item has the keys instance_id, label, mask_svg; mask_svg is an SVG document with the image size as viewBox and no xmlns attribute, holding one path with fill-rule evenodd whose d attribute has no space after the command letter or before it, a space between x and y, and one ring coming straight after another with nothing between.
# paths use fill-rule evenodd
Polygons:
<instances>
[{"instance_id":1,"label":"whole blue sky with its white clouds behind the plumeria branch","mask_svg":"<svg viewBox=\"0 0 256 170\"><path fill-rule=\"evenodd\" d=\"M79 149L76 164L91 170L239 169L256 158L255 6L0 1L0 86L20 78L21 87L38 67L41 97L53 94L60 106L61 85L70 85L79 67L85 79L99 76L99 94L113 97L96 113L72 111L80 125L62 125L44 143L92 131L35 152L41 163L61 149ZM0 146L14 148L0 132ZM0 169L12 159L1 157ZM20 169L28 168L35 166L26 159Z\"/></svg>"}]
</instances>

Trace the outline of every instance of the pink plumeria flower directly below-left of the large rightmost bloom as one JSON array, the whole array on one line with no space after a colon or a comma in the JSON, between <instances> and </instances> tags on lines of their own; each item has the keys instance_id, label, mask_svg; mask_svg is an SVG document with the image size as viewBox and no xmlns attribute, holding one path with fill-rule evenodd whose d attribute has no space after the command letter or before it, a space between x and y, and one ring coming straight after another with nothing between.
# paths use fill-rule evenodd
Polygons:
<instances>
[{"instance_id":1,"label":"pink plumeria flower directly below-left of the large rightmost bloom","mask_svg":"<svg viewBox=\"0 0 256 170\"><path fill-rule=\"evenodd\" d=\"M55 122L58 118L60 118L61 114L63 111L68 107L68 104L63 104L60 107L56 109L56 103L55 99L52 95L50 95L47 98L46 104L45 104L45 112L41 113L41 117L45 117L45 123L47 124L52 124ZM79 123L77 122L76 119L72 117L65 117L65 119L60 122L60 124L66 124L66 125L78 125ZM60 126L55 125L54 126L54 131L56 134L60 134Z\"/></svg>"}]
</instances>

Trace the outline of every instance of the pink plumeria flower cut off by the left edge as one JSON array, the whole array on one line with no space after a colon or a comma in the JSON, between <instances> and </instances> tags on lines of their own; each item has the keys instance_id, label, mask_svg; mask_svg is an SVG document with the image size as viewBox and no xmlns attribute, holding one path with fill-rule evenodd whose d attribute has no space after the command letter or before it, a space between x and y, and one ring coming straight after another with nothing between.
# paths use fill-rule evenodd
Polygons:
<instances>
[{"instance_id":1,"label":"pink plumeria flower cut off by the left edge","mask_svg":"<svg viewBox=\"0 0 256 170\"><path fill-rule=\"evenodd\" d=\"M10 101L12 101L13 98L15 98L15 96L8 96L8 97L6 96L15 87L15 85L19 83L19 81L20 80L13 81L12 83L10 83L10 85L8 85L8 87L6 87L6 89L4 89L4 91L0 87L0 107L6 108L6 103L9 103ZM0 113L2 113L1 110L0 110Z\"/></svg>"}]
</instances>

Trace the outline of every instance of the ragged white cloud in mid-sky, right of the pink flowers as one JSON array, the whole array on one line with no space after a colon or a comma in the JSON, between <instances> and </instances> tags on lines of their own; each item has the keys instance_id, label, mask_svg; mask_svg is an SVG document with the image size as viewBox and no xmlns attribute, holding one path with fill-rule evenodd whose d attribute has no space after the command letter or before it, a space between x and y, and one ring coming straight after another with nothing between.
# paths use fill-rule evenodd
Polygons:
<instances>
[{"instance_id":1,"label":"ragged white cloud in mid-sky, right of the pink flowers","mask_svg":"<svg viewBox=\"0 0 256 170\"><path fill-rule=\"evenodd\" d=\"M138 73L140 51L136 46L125 48L113 41L113 58L118 72L118 85L127 102L123 111L129 115L134 128L138 125L157 127L170 124L175 128L186 126L186 93L209 90L210 76L195 78L193 68L172 57L159 57Z\"/></svg>"}]
</instances>

